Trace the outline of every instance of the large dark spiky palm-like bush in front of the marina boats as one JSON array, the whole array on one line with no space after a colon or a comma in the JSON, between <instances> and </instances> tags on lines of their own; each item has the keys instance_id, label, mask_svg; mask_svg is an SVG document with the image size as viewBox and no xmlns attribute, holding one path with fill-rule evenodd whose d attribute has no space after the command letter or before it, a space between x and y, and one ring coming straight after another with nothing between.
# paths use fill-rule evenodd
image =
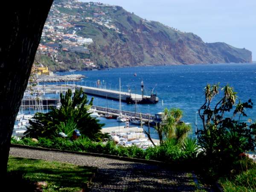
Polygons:
<instances>
[{"instance_id":1,"label":"large dark spiky palm-like bush in front of the marina boats","mask_svg":"<svg viewBox=\"0 0 256 192\"><path fill-rule=\"evenodd\" d=\"M60 109L52 109L49 113L35 113L33 119L29 120L26 136L57 137L59 131L70 135L77 128L81 134L94 140L105 137L100 132L104 124L100 124L98 119L87 112L93 105L93 98L88 103L87 95L82 89L75 90L73 96L69 89L65 95L61 93L60 97Z\"/></svg>"}]
</instances>

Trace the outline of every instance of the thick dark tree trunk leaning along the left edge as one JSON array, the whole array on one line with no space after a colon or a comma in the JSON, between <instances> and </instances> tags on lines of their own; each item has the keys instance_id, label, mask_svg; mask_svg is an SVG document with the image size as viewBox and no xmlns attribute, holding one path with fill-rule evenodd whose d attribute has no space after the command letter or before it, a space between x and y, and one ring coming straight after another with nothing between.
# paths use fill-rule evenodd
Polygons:
<instances>
[{"instance_id":1,"label":"thick dark tree trunk leaning along the left edge","mask_svg":"<svg viewBox=\"0 0 256 192\"><path fill-rule=\"evenodd\" d=\"M53 0L7 3L0 9L0 180L5 178L15 118Z\"/></svg>"}]
</instances>

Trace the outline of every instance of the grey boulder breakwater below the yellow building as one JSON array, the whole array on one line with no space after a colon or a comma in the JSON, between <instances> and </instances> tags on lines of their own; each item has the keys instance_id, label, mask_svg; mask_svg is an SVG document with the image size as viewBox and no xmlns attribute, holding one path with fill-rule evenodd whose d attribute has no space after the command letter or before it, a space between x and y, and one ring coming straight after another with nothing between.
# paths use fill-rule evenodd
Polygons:
<instances>
[{"instance_id":1,"label":"grey boulder breakwater below the yellow building","mask_svg":"<svg viewBox=\"0 0 256 192\"><path fill-rule=\"evenodd\" d=\"M64 81L81 81L83 75L65 75L65 76L38 76L38 82L64 82Z\"/></svg>"}]
</instances>

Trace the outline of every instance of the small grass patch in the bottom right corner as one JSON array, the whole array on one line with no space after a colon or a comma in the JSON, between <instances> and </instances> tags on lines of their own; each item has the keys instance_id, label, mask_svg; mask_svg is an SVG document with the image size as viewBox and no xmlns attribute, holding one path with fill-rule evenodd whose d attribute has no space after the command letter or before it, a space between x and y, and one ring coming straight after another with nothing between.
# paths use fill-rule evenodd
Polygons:
<instances>
[{"instance_id":1,"label":"small grass patch in the bottom right corner","mask_svg":"<svg viewBox=\"0 0 256 192\"><path fill-rule=\"evenodd\" d=\"M225 192L256 192L256 167L232 179L221 178L220 183Z\"/></svg>"}]
</instances>

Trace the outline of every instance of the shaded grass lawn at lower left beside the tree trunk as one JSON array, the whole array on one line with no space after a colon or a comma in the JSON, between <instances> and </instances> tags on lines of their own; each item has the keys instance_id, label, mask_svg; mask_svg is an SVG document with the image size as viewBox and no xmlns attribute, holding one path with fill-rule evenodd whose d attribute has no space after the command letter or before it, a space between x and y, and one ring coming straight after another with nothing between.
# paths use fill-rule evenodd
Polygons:
<instances>
[{"instance_id":1,"label":"shaded grass lawn at lower left beside the tree trunk","mask_svg":"<svg viewBox=\"0 0 256 192\"><path fill-rule=\"evenodd\" d=\"M20 187L26 191L35 189L35 182L45 181L48 186L46 192L79 191L96 172L96 168L76 166L70 163L49 162L18 157L9 157L8 180L10 187ZM20 182L21 186L17 183Z\"/></svg>"}]
</instances>

